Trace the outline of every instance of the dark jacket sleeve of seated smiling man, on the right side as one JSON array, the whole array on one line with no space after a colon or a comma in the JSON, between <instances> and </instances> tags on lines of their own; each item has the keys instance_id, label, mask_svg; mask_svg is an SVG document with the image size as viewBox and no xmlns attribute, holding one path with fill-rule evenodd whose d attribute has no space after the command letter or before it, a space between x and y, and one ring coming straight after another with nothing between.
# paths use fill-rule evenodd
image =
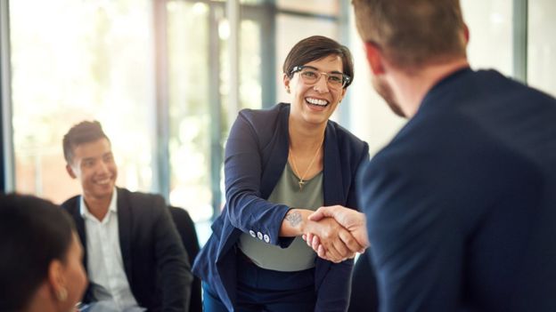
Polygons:
<instances>
[{"instance_id":1,"label":"dark jacket sleeve of seated smiling man, on the right side","mask_svg":"<svg viewBox=\"0 0 556 312\"><path fill-rule=\"evenodd\" d=\"M155 197L158 212L154 224L155 258L162 288L162 310L189 310L193 276L184 245L162 197Z\"/></svg>"}]
</instances>

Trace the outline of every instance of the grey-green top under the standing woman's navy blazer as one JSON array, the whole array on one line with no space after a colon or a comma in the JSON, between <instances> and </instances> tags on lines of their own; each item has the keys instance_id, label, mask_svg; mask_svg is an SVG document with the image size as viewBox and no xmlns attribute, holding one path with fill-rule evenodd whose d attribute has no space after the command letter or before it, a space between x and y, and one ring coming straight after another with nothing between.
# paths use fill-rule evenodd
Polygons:
<instances>
[{"instance_id":1,"label":"grey-green top under the standing woman's navy blazer","mask_svg":"<svg viewBox=\"0 0 556 312\"><path fill-rule=\"evenodd\" d=\"M285 204L291 208L316 210L321 207L324 202L323 172L319 172L311 180L306 180L302 190L299 190L298 181L299 178L291 170L290 164L286 163L268 201ZM260 268L293 272L315 267L316 253L300 236L295 237L288 248L281 248L267 244L257 236L242 233L238 247Z\"/></svg>"}]
</instances>

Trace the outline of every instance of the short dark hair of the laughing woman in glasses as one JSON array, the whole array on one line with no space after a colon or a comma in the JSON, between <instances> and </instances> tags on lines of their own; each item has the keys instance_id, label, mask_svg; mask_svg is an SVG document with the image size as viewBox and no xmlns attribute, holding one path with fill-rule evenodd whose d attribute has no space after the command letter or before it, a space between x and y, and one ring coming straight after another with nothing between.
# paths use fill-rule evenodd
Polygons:
<instances>
[{"instance_id":1,"label":"short dark hair of the laughing woman in glasses","mask_svg":"<svg viewBox=\"0 0 556 312\"><path fill-rule=\"evenodd\" d=\"M284 60L283 73L291 78L293 76L291 70L296 66L305 65L313 60L321 60L329 55L338 55L342 60L342 72L351 78L344 86L347 88L354 78L351 52L345 45L325 36L310 36L295 44Z\"/></svg>"}]
</instances>

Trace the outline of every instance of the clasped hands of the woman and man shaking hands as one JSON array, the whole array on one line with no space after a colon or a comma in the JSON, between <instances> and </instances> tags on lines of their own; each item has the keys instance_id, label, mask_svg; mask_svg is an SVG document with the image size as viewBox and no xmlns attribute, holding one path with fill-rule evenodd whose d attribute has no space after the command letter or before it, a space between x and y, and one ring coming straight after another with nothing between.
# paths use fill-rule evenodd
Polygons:
<instances>
[{"instance_id":1,"label":"clasped hands of the woman and man shaking hands","mask_svg":"<svg viewBox=\"0 0 556 312\"><path fill-rule=\"evenodd\" d=\"M309 214L303 233L319 257L335 263L354 258L370 245L364 213L341 205L324 206Z\"/></svg>"}]
</instances>

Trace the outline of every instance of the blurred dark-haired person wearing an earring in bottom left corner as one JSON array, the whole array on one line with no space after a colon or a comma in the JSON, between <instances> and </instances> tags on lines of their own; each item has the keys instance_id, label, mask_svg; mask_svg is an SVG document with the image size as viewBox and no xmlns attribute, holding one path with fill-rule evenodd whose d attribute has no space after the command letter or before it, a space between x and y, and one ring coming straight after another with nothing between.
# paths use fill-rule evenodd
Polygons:
<instances>
[{"instance_id":1,"label":"blurred dark-haired person wearing an earring in bottom left corner","mask_svg":"<svg viewBox=\"0 0 556 312\"><path fill-rule=\"evenodd\" d=\"M35 196L0 194L0 311L72 312L86 288L70 216Z\"/></svg>"}]
</instances>

